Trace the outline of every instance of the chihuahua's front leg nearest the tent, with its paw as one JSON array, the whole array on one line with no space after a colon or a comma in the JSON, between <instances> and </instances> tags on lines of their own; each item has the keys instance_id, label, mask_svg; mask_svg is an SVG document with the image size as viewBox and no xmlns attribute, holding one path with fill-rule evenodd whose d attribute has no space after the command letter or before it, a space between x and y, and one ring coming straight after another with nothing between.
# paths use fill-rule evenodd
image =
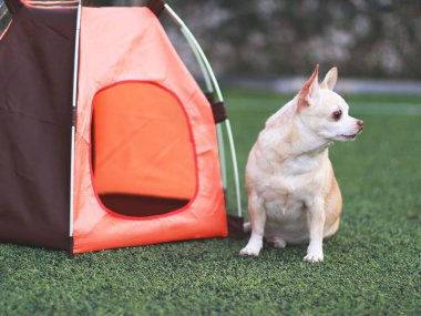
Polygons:
<instances>
[{"instance_id":1,"label":"chihuahua's front leg nearest the tent, with its paw","mask_svg":"<svg viewBox=\"0 0 421 316\"><path fill-rule=\"evenodd\" d=\"M250 214L251 236L239 254L243 256L258 256L263 247L266 212L261 198L256 194L248 196L248 213Z\"/></svg>"}]
</instances>

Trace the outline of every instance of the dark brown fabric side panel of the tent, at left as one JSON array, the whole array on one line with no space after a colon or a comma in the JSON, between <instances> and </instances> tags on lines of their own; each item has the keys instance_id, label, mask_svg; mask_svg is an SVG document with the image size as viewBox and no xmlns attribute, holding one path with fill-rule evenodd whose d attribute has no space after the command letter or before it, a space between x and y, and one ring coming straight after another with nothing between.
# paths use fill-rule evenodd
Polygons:
<instances>
[{"instance_id":1,"label":"dark brown fabric side panel of the tent, at left","mask_svg":"<svg viewBox=\"0 0 421 316\"><path fill-rule=\"evenodd\" d=\"M0 41L0 239L69 249L76 10L12 2Z\"/></svg>"}]
</instances>

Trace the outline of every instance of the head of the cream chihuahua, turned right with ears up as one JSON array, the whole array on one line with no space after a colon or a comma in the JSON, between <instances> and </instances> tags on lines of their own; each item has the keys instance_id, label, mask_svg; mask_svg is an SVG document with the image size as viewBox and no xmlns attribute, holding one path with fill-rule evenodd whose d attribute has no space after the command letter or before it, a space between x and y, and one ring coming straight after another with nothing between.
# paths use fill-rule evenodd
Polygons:
<instances>
[{"instance_id":1,"label":"head of the cream chihuahua, turned right with ears up","mask_svg":"<svg viewBox=\"0 0 421 316\"><path fill-rule=\"evenodd\" d=\"M332 91L338 70L330 69L320 84L318 71L319 65L297 95L297 114L302 125L320 141L353 141L364 123L350 116L347 102Z\"/></svg>"}]
</instances>

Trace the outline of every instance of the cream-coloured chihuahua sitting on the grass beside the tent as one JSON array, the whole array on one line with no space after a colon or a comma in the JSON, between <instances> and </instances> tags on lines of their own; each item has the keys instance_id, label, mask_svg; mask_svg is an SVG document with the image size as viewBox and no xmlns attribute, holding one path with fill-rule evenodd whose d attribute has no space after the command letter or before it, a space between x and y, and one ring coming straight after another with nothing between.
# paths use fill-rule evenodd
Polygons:
<instances>
[{"instance_id":1,"label":"cream-coloured chihuahua sitting on the grass beside the tent","mask_svg":"<svg viewBox=\"0 0 421 316\"><path fill-rule=\"evenodd\" d=\"M363 129L332 91L338 70L319 84L317 65L300 92L270 116L246 166L251 236L240 255L258 256L263 238L284 248L309 243L306 262L322 262L322 241L339 227L342 197L328 147Z\"/></svg>"}]
</instances>

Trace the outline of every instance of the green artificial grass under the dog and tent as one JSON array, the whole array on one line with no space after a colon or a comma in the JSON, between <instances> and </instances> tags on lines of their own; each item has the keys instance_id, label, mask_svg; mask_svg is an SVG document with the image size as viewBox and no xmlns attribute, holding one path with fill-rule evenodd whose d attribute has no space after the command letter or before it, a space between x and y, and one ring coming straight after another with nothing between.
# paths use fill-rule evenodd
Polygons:
<instances>
[{"instance_id":1,"label":"green artificial grass under the dog and tent","mask_svg":"<svg viewBox=\"0 0 421 316\"><path fill-rule=\"evenodd\" d=\"M226 95L242 182L265 120L287 100ZM343 213L339 232L324 244L324 263L304 263L306 245L265 244L259 257L244 258L238 251L247 238L74 258L0 244L0 315L420 315L421 96L346 100L366 129L330 150ZM244 186L242 193L246 208Z\"/></svg>"}]
</instances>

